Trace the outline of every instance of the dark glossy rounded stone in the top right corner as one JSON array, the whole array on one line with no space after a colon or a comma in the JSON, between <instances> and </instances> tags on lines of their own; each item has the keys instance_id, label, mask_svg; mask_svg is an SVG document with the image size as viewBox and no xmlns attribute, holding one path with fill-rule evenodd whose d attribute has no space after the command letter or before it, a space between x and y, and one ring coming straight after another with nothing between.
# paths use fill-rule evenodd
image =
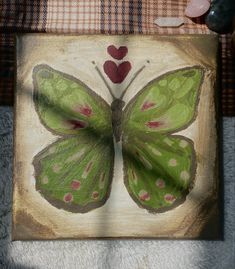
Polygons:
<instances>
[{"instance_id":1,"label":"dark glossy rounded stone in the top right corner","mask_svg":"<svg viewBox=\"0 0 235 269\"><path fill-rule=\"evenodd\" d=\"M235 16L235 0L214 0L206 17L206 25L215 32L226 32Z\"/></svg>"}]
</instances>

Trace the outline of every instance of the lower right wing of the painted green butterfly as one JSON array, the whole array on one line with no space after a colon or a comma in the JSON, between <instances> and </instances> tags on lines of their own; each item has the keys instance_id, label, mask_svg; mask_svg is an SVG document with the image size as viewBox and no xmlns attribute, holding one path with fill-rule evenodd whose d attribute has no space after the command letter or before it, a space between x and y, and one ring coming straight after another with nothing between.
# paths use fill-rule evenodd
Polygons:
<instances>
[{"instance_id":1,"label":"lower right wing of the painted green butterfly","mask_svg":"<svg viewBox=\"0 0 235 269\"><path fill-rule=\"evenodd\" d=\"M193 142L182 136L133 136L123 141L123 162L129 194L150 212L182 203L195 178Z\"/></svg>"}]
</instances>

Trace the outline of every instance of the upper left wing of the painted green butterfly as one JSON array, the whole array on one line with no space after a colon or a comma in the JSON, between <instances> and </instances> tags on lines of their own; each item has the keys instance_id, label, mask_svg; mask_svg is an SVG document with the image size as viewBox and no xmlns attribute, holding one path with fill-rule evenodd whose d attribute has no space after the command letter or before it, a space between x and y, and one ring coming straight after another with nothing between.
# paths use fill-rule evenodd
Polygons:
<instances>
[{"instance_id":1,"label":"upper left wing of the painted green butterfly","mask_svg":"<svg viewBox=\"0 0 235 269\"><path fill-rule=\"evenodd\" d=\"M81 131L110 135L108 104L78 79L38 65L33 70L34 102L42 124L57 135Z\"/></svg>"}]
</instances>

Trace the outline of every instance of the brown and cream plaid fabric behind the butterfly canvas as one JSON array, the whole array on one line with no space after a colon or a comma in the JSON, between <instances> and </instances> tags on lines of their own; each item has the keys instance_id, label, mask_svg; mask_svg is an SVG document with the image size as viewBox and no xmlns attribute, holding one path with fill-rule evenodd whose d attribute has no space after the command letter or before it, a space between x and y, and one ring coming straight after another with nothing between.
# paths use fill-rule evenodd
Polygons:
<instances>
[{"instance_id":1,"label":"brown and cream plaid fabric behind the butterfly canvas","mask_svg":"<svg viewBox=\"0 0 235 269\"><path fill-rule=\"evenodd\" d=\"M1 0L0 104L13 103L13 32L80 34L205 34L203 19L180 28L160 28L157 17L184 17L187 0ZM222 111L235 115L235 64L230 36L222 35Z\"/></svg>"}]
</instances>

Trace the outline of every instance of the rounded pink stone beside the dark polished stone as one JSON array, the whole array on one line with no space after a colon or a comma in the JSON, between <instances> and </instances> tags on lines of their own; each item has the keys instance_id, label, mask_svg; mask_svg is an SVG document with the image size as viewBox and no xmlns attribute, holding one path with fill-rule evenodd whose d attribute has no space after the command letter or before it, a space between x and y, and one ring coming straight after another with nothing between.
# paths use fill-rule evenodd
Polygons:
<instances>
[{"instance_id":1,"label":"rounded pink stone beside the dark polished stone","mask_svg":"<svg viewBox=\"0 0 235 269\"><path fill-rule=\"evenodd\" d=\"M205 14L209 8L209 0L191 0L185 9L185 15L190 18L200 17Z\"/></svg>"}]
</instances>

